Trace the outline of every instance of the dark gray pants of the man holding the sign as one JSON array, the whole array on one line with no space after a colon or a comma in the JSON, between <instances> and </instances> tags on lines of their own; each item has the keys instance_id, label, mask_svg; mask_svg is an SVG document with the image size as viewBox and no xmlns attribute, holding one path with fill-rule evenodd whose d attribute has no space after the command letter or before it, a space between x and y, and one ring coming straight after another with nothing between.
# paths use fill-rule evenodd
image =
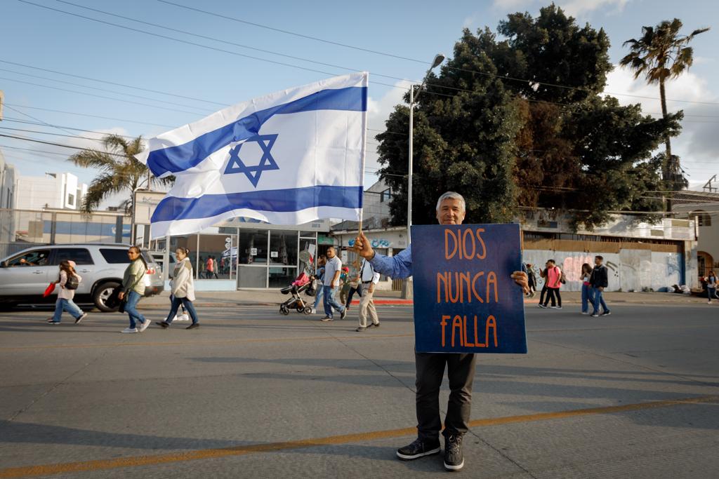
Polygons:
<instances>
[{"instance_id":1,"label":"dark gray pants of the man holding the sign","mask_svg":"<svg viewBox=\"0 0 719 479\"><path fill-rule=\"evenodd\" d=\"M445 365L451 392L444 418L444 435L466 433L470 429L476 356L458 353L415 353L415 363L418 437L421 440L439 439L442 429L439 417L439 388Z\"/></svg>"}]
</instances>

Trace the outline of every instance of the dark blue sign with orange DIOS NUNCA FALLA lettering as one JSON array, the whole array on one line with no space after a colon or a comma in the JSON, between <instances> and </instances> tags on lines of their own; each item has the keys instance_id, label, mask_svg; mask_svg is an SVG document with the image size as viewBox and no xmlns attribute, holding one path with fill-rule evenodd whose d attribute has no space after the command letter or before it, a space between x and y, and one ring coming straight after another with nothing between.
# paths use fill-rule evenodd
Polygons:
<instances>
[{"instance_id":1,"label":"dark blue sign with orange DIOS NUNCA FALLA lettering","mask_svg":"<svg viewBox=\"0 0 719 479\"><path fill-rule=\"evenodd\" d=\"M526 353L517 224L412 226L418 353Z\"/></svg>"}]
</instances>

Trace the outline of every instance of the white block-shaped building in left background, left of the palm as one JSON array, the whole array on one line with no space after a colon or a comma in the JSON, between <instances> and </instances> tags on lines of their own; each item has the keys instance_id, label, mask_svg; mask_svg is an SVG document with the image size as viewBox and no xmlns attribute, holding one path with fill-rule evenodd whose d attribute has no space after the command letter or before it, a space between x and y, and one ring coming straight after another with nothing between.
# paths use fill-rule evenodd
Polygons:
<instances>
[{"instance_id":1,"label":"white block-shaped building in left background, left of the palm","mask_svg":"<svg viewBox=\"0 0 719 479\"><path fill-rule=\"evenodd\" d=\"M19 210L79 210L88 186L72 173L45 173L44 177L19 177L16 191Z\"/></svg>"}]
</instances>

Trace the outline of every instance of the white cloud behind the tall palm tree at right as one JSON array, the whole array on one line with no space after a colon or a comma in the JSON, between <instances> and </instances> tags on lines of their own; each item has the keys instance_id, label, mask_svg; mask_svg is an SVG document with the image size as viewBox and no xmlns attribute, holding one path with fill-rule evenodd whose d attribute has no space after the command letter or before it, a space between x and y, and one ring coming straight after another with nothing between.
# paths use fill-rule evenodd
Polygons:
<instances>
[{"instance_id":1,"label":"white cloud behind the tall palm tree at right","mask_svg":"<svg viewBox=\"0 0 719 479\"><path fill-rule=\"evenodd\" d=\"M684 111L682 133L672 139L672 153L679 156L692 187L703 185L710 176L719 174L718 108L716 104L706 104L719 103L719 98L707 80L692 72L670 80L666 88L669 112ZM641 103L645 113L661 116L659 85L648 85L642 77L634 80L630 70L617 66L607 77L605 93L616 96L623 105Z\"/></svg>"}]
</instances>

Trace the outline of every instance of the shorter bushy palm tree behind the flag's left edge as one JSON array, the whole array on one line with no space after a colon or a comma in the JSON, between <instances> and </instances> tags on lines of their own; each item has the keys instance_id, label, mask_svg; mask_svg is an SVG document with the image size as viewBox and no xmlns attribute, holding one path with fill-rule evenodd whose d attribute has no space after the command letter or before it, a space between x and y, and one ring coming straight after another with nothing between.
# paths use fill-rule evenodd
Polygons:
<instances>
[{"instance_id":1,"label":"shorter bushy palm tree behind the flag's left edge","mask_svg":"<svg viewBox=\"0 0 719 479\"><path fill-rule=\"evenodd\" d=\"M170 185L173 177L156 178L150 169L137 161L134 157L142 151L142 136L127 140L119 135L107 135L102 140L104 152L96 149L86 149L73 154L70 162L79 167L97 168L100 174L88 187L87 195L83 200L82 210L91 213L109 195L119 192L128 192L129 198L124 201L125 211L132 213L133 194L143 186Z\"/></svg>"}]
</instances>

